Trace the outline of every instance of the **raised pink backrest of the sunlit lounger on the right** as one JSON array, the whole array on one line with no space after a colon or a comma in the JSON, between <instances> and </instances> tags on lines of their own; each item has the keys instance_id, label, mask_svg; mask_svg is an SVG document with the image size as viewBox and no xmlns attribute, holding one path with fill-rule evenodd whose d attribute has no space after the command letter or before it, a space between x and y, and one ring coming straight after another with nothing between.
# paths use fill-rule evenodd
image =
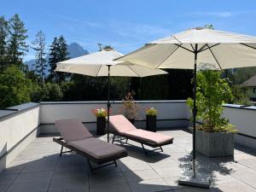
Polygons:
<instances>
[{"instance_id":1,"label":"raised pink backrest of the sunlit lounger on the right","mask_svg":"<svg viewBox=\"0 0 256 192\"><path fill-rule=\"evenodd\" d=\"M131 122L125 118L124 115L113 115L109 117L109 123L113 129L119 133L136 130L137 128L131 124Z\"/></svg>"}]
</instances>

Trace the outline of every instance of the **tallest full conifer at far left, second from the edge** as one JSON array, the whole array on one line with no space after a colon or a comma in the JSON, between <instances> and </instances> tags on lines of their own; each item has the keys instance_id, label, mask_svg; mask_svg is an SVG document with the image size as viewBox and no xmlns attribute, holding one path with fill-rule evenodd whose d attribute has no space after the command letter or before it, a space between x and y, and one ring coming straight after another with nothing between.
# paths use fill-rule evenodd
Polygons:
<instances>
[{"instance_id":1,"label":"tallest full conifer at far left, second from the edge","mask_svg":"<svg viewBox=\"0 0 256 192\"><path fill-rule=\"evenodd\" d=\"M20 66L22 56L26 55L28 45L26 44L26 28L19 15L15 14L9 20L10 38L8 45L9 63Z\"/></svg>"}]
</instances>

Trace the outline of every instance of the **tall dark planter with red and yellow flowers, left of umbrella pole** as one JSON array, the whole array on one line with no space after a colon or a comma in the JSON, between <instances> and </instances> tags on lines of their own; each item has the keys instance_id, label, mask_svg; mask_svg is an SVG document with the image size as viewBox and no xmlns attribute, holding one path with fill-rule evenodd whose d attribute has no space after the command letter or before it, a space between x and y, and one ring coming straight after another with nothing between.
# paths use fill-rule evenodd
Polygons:
<instances>
[{"instance_id":1,"label":"tall dark planter with red and yellow flowers, left of umbrella pole","mask_svg":"<svg viewBox=\"0 0 256 192\"><path fill-rule=\"evenodd\" d=\"M106 133L106 117L108 111L104 108L92 109L91 112L96 116L96 134L104 135Z\"/></svg>"}]
</instances>

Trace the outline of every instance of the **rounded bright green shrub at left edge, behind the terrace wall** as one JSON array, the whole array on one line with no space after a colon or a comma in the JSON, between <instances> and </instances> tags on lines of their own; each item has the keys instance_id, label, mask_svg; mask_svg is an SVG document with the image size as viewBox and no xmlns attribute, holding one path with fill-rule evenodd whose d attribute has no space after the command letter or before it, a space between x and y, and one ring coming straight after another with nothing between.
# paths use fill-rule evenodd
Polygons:
<instances>
[{"instance_id":1,"label":"rounded bright green shrub at left edge, behind the terrace wall","mask_svg":"<svg viewBox=\"0 0 256 192\"><path fill-rule=\"evenodd\" d=\"M32 82L19 67L10 66L0 73L0 108L31 101Z\"/></svg>"}]
</instances>

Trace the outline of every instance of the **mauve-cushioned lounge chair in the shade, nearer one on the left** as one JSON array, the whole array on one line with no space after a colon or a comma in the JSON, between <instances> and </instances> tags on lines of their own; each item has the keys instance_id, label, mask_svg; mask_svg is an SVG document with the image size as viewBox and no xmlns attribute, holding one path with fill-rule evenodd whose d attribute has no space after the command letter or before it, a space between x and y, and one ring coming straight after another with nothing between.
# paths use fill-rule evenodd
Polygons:
<instances>
[{"instance_id":1,"label":"mauve-cushioned lounge chair in the shade, nearer one on the left","mask_svg":"<svg viewBox=\"0 0 256 192\"><path fill-rule=\"evenodd\" d=\"M55 127L60 131L61 137L53 138L53 141L61 144L61 154L74 151L83 155L92 172L103 166L117 166L116 160L127 156L125 148L93 137L79 119L56 120ZM63 152L63 147L70 150ZM90 161L99 166L93 168Z\"/></svg>"}]
</instances>

